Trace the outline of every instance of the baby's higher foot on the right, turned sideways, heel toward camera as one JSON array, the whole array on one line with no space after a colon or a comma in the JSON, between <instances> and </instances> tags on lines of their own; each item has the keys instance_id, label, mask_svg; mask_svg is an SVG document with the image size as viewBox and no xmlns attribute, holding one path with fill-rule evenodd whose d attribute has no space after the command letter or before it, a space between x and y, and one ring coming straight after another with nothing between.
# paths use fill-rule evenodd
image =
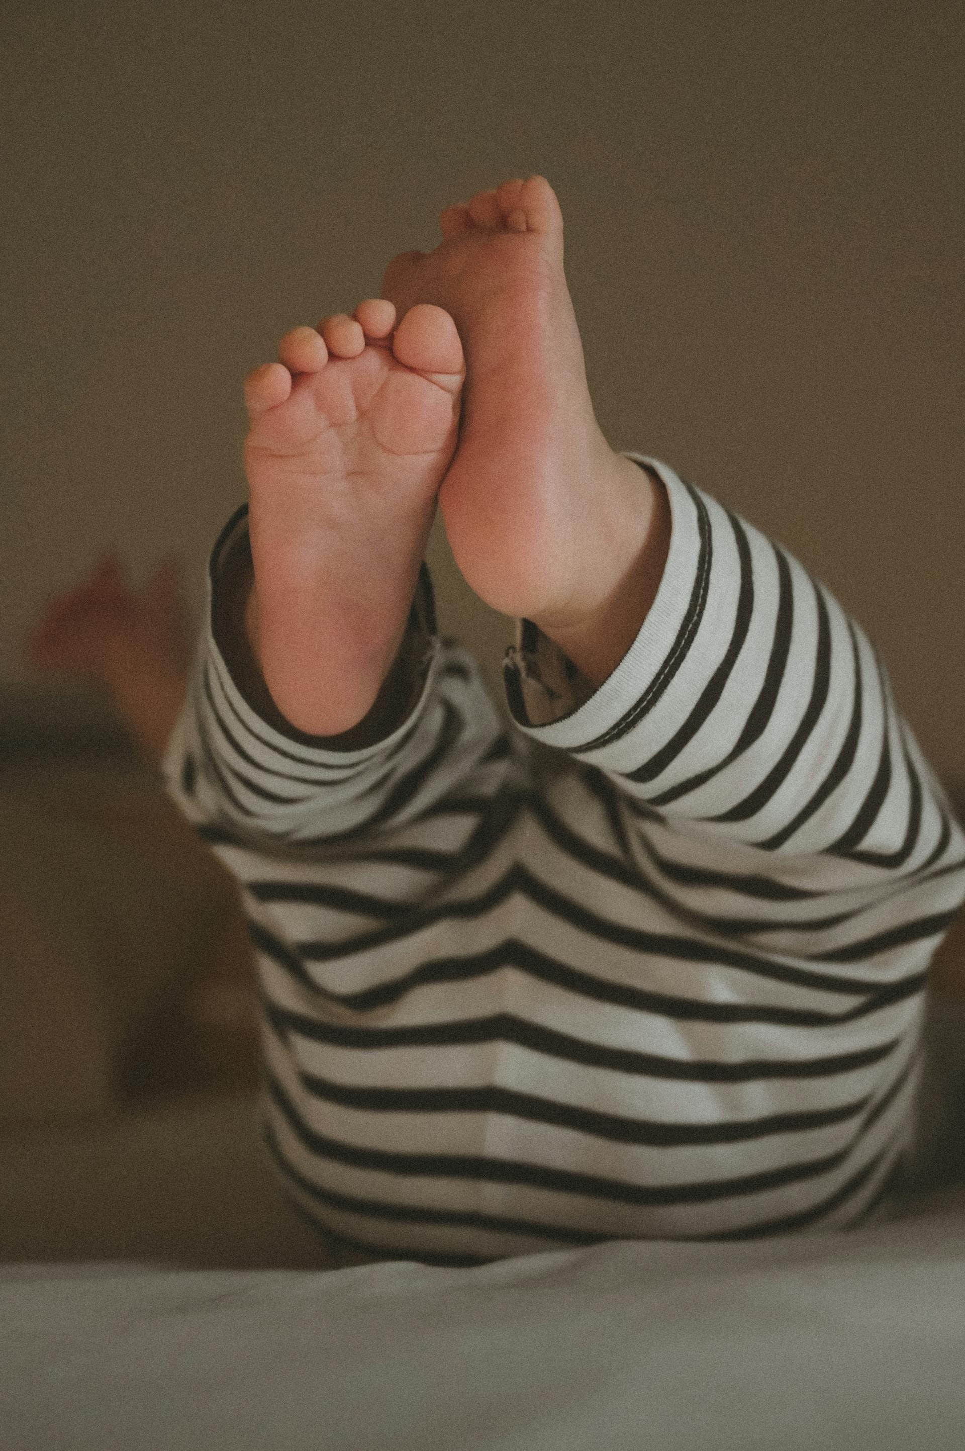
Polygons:
<instances>
[{"instance_id":1,"label":"baby's higher foot on the right, turned sideways, heel toward camera","mask_svg":"<svg viewBox=\"0 0 965 1451\"><path fill-rule=\"evenodd\" d=\"M650 486L594 415L556 193L540 176L504 181L447 207L440 231L435 251L389 263L383 292L445 308L466 345L460 444L438 496L453 554L492 608L580 628L609 572L634 567Z\"/></svg>"}]
</instances>

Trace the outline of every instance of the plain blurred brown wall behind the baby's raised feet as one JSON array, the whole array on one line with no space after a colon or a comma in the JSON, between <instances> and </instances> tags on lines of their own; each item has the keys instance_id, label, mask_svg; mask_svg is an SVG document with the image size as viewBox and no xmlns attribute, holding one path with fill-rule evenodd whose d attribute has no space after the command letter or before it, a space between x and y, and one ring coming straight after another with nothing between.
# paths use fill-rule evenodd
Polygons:
<instances>
[{"instance_id":1,"label":"plain blurred brown wall behind the baby's raised feet","mask_svg":"<svg viewBox=\"0 0 965 1451\"><path fill-rule=\"evenodd\" d=\"M115 544L203 598L241 380L540 171L596 414L784 541L965 776L962 48L953 0L3 7L0 683ZM437 533L447 631L509 622ZM58 710L64 710L58 696Z\"/></svg>"}]
</instances>

